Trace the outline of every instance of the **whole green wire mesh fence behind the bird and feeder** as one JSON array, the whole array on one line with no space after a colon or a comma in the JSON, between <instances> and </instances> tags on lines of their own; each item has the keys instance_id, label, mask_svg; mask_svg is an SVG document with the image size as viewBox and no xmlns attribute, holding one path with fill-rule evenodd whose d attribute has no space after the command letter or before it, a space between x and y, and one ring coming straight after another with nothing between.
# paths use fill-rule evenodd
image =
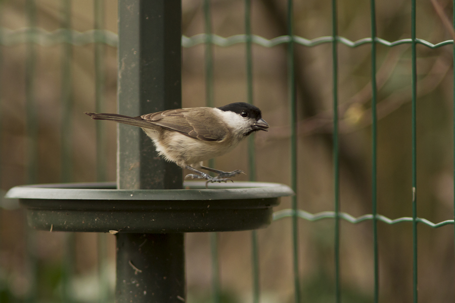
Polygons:
<instances>
[{"instance_id":1,"label":"whole green wire mesh fence behind the bird and feeder","mask_svg":"<svg viewBox=\"0 0 455 303\"><path fill-rule=\"evenodd\" d=\"M0 29L0 45L3 46L15 46L20 44L27 45L27 63L26 63L26 123L27 123L27 137L29 139L29 145L27 146L27 182L35 183L37 180L38 173L38 159L37 159L37 130L38 130L38 119L36 111L36 102L34 99L34 91L36 89L34 84L34 79L36 77L35 65L36 65L36 44L41 46L54 46L62 45L62 138L61 138L61 161L62 161L62 176L63 181L72 180L72 167L71 167L71 133L72 133L72 113L73 113L73 103L72 95L73 91L71 88L72 77L71 77L71 65L72 60L72 48L75 46L83 46L87 44L95 43L95 79L96 79L96 110L102 112L104 109L104 85L105 85L105 66L103 63L103 58L105 55L105 46L117 46L118 37L115 33L103 29L103 9L102 1L95 1L94 11L95 11L95 24L94 29L79 32L71 29L71 3L69 1L63 1L63 22L61 28L55 31L47 31L42 28L36 27L36 7L33 0L27 0L27 20L28 27L20 28L16 30L11 30L7 28ZM334 229L334 283L335 283L335 294L334 301L341 302L342 299L342 287L341 287L341 256L340 256L340 233L341 233L341 222L349 222L352 224L357 224L365 221L372 222L372 237L373 237L373 260L374 264L374 283L373 283L373 301L379 302L380 300L380 267L379 267L379 253L378 253L378 224L385 223L389 225L394 225L398 223L412 223L412 248L413 248L413 301L418 301L418 224L424 224L432 228L439 228L445 225L454 224L454 220L444 220L442 222L433 223L425 218L420 218L417 216L417 89L418 89L418 73L417 73L417 46L423 45L430 49L440 48L446 45L452 45L453 51L452 55L455 58L455 45L453 40L445 40L438 43L430 43L426 40L417 38L416 35L416 1L412 0L411 2L411 38L403 38L395 41L387 41L377 36L377 26L376 26L376 3L375 0L370 1L370 19L371 19L371 37L361 38L356 41L351 41L346 37L339 36L338 34L338 14L337 14L337 1L332 0L331 2L331 20L332 20L332 34L330 36L322 36L314 39L306 39L294 34L294 18L293 18L293 1L287 2L286 8L286 19L287 19L287 32L286 35L278 36L271 39L266 39L259 35L253 34L252 25L251 25L251 0L245 0L245 34L238 34L229 37L222 37L216 34L213 34L212 25L211 25L211 2L209 0L203 0L202 2L202 11L204 18L204 33L196 34L194 36L188 37L183 36L181 44L183 47L189 48L196 45L204 45L205 51L205 96L206 96L206 105L214 106L214 61L216 58L213 56L214 46L219 47L229 47L235 44L245 44L245 62L246 62L246 96L245 100L248 103L253 104L255 96L253 95L253 45L261 47L277 47L281 44L286 46L286 64L287 64L287 83L288 83L288 100L287 104L289 107L289 127L290 127L290 183L293 190L298 192L298 176L300 172L298 168L299 160L299 150L297 148L298 141L298 102L296 95L296 80L295 80L295 52L296 46L301 45L304 47L316 47L323 44L331 45L331 55L332 55L332 91L333 91L333 100L332 100L332 119L333 119L333 137L332 137L332 147L333 147L333 177L334 177L334 188L333 188L333 203L334 211L325 211L321 213L311 214L302 209L299 209L299 195L295 195L291 200L290 208L277 211L274 214L274 221L285 219L290 217L292 220L292 229L290 232L290 237L292 238L292 275L294 283L294 301L296 303L302 302L302 277L299 263L299 219L306 221L320 221L320 220L333 220L333 229ZM453 5L453 26L455 27L455 5ZM378 188L377 188L377 152L378 152L378 87L377 87L377 47L378 45L383 45L386 47L394 47L398 45L409 44L411 45L411 74L412 74L412 92L411 92L411 105L412 105L412 188L410 188L410 193L412 194L412 217L400 217L396 219L389 219L386 216L383 216L378 213ZM341 212L341 202L340 202L340 161L339 161L339 96L338 96L338 65L339 65L339 56L338 48L340 45L345 45L351 48L356 48L359 46L369 46L371 47L371 85L372 85L372 98L371 98L371 144L372 144L372 155L371 155L371 180L372 180L372 205L371 205L371 214L361 215L359 217L354 217L348 213ZM455 69L454 69L455 71ZM455 73L455 72L454 72ZM455 86L454 86L455 91ZM454 93L454 103L455 103L455 93ZM455 115L455 107L454 107ZM106 162L105 162L105 138L104 138L104 129L102 123L97 123L97 178L100 181L106 180ZM455 134L455 124L454 124L454 134ZM455 139L454 139L455 141ZM455 150L455 145L453 145ZM255 181L256 176L256 164L255 164L255 144L254 137L251 137L248 142L248 163L249 163L249 179L250 181ZM453 153L455 157L455 151ZM455 159L455 158L454 158ZM455 161L454 161L455 162ZM210 165L213 165L212 161ZM455 215L455 211L454 211ZM30 231L31 232L31 231ZM211 258L212 258L212 301L220 302L221 301L221 282L219 279L219 260L218 260L218 236L216 233L211 234L210 236L210 249L211 249ZM31 241L31 240L30 240ZM108 286L106 285L106 277L103 272L103 267L105 265L105 249L106 249L106 239L101 235L98 239L99 241L99 275L100 281L103 285L101 288L100 297L103 302L109 300L109 295L107 295ZM69 237L68 246L72 247L74 239ZM33 245L31 242L30 245ZM32 248L31 248L32 249ZM252 298L254 303L261 301L261 288L259 275L261 268L259 267L259 258L260 258L260 249L258 246L258 235L256 231L251 232L251 264L252 264ZM68 278L67 275L71 273L71 263L74 256L71 256L71 253L68 254L68 266L66 268L66 273L64 277ZM33 267L33 261L31 266ZM36 274L36 273L35 273ZM290 273L291 274L291 273ZM103 282L104 281L104 282ZM36 291L33 289L32 292ZM64 291L68 293L68 290ZM64 295L65 300L70 301L71 298ZM30 298L30 301L36 301L37 298L33 296ZM452 298L453 300L453 298Z\"/></svg>"}]
</instances>

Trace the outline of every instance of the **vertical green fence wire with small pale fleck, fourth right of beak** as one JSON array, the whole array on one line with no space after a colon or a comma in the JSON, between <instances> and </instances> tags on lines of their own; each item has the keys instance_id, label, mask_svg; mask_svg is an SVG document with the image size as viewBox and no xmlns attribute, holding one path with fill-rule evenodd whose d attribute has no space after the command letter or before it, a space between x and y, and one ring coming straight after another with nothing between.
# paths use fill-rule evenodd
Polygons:
<instances>
[{"instance_id":1,"label":"vertical green fence wire with small pale fleck, fourth right of beak","mask_svg":"<svg viewBox=\"0 0 455 303\"><path fill-rule=\"evenodd\" d=\"M412 39L412 206L413 206L413 301L417 303L417 51L416 0L411 1Z\"/></svg>"}]
</instances>

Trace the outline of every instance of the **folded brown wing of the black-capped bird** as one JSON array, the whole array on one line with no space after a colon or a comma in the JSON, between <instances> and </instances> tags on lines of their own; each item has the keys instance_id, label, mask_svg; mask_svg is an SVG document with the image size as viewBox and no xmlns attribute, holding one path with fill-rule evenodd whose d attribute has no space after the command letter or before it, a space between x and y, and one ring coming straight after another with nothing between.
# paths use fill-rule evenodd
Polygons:
<instances>
[{"instance_id":1,"label":"folded brown wing of the black-capped bird","mask_svg":"<svg viewBox=\"0 0 455 303\"><path fill-rule=\"evenodd\" d=\"M162 128L203 141L220 141L228 129L213 115L211 108L167 110L141 116Z\"/></svg>"}]
</instances>

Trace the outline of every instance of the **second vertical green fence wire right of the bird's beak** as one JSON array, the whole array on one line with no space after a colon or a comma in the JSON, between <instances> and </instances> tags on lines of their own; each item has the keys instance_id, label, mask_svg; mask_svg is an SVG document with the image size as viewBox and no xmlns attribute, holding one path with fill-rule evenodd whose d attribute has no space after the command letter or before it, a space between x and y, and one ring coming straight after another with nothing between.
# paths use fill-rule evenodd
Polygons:
<instances>
[{"instance_id":1,"label":"second vertical green fence wire right of the bird's beak","mask_svg":"<svg viewBox=\"0 0 455 303\"><path fill-rule=\"evenodd\" d=\"M333 166L335 209L335 301L341 302L340 289L340 180L338 151L338 15L337 2L332 0L332 73L333 73Z\"/></svg>"}]
</instances>

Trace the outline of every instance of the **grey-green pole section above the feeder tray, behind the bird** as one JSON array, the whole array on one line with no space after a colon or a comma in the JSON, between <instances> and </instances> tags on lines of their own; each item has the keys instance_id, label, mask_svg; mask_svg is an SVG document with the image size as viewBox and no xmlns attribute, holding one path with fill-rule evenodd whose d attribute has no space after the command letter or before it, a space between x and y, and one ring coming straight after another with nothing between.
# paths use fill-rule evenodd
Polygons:
<instances>
[{"instance_id":1,"label":"grey-green pole section above the feeder tray, behind the bird","mask_svg":"<svg viewBox=\"0 0 455 303\"><path fill-rule=\"evenodd\" d=\"M181 107L180 25L180 1L119 1L120 114L139 116ZM181 188L181 169L159 159L140 128L118 124L117 152L118 188Z\"/></svg>"}]
</instances>

